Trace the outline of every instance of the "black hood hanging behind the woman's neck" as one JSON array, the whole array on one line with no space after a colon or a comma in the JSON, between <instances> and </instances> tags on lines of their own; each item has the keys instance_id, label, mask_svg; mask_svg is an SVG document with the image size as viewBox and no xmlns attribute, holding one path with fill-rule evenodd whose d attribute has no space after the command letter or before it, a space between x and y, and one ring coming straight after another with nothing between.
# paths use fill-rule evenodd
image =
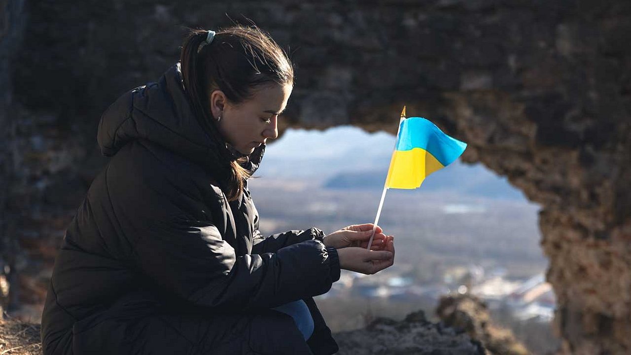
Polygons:
<instances>
[{"instance_id":1,"label":"black hood hanging behind the woman's neck","mask_svg":"<svg viewBox=\"0 0 631 355\"><path fill-rule=\"evenodd\" d=\"M199 124L184 92L180 62L171 66L157 83L127 91L101 116L97 141L104 156L114 156L130 141L143 139L224 173L229 171L230 160L239 158L227 143L213 139ZM264 151L265 144L254 149L242 166L254 173ZM222 158L222 154L230 158Z\"/></svg>"}]
</instances>

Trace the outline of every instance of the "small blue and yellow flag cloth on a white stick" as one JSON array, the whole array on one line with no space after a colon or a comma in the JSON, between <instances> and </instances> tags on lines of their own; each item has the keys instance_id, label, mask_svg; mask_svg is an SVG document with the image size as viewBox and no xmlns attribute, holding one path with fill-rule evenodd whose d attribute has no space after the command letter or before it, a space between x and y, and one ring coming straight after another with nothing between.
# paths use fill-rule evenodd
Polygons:
<instances>
[{"instance_id":1,"label":"small blue and yellow flag cloth on a white stick","mask_svg":"<svg viewBox=\"0 0 631 355\"><path fill-rule=\"evenodd\" d=\"M401 117L386 188L420 187L425 177L453 163L463 154L466 146L466 143L447 136L423 117Z\"/></svg>"}]
</instances>

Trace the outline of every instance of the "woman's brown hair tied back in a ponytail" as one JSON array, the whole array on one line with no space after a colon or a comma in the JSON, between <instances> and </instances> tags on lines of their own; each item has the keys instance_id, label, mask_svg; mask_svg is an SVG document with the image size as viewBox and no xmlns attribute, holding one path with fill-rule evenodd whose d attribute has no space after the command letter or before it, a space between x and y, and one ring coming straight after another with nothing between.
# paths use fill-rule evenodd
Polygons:
<instances>
[{"instance_id":1,"label":"woman's brown hair tied back in a ponytail","mask_svg":"<svg viewBox=\"0 0 631 355\"><path fill-rule=\"evenodd\" d=\"M223 28L216 31L210 44L205 44L208 31L189 30L180 54L184 90L200 124L219 143L220 160L230 170L225 193L228 201L233 201L239 198L250 173L240 165L242 160L234 160L225 147L216 118L209 110L209 94L221 90L230 103L239 105L259 86L293 85L293 66L269 34L256 26Z\"/></svg>"}]
</instances>

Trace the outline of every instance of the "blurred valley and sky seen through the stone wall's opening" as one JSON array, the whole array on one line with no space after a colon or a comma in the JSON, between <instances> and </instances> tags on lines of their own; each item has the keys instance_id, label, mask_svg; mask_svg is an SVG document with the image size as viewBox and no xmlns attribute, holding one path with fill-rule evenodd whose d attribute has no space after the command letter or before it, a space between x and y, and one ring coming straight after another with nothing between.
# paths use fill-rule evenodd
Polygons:
<instances>
[{"instance_id":1,"label":"blurred valley and sky seen through the stone wall's opening","mask_svg":"<svg viewBox=\"0 0 631 355\"><path fill-rule=\"evenodd\" d=\"M317 226L331 233L374 222L394 138L350 126L288 129L249 180L261 232ZM343 271L316 300L339 332L416 310L435 319L440 295L471 293L533 354L552 351L555 300L543 277L539 209L505 178L456 161L420 189L387 192L379 225L395 236L392 267L372 276Z\"/></svg>"}]
</instances>

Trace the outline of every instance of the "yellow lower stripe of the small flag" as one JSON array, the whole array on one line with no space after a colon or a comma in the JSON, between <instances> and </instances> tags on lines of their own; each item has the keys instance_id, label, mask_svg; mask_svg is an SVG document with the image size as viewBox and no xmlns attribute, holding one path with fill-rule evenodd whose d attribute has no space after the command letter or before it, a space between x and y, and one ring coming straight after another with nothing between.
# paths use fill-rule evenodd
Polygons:
<instances>
[{"instance_id":1,"label":"yellow lower stripe of the small flag","mask_svg":"<svg viewBox=\"0 0 631 355\"><path fill-rule=\"evenodd\" d=\"M423 148L392 152L386 187L392 189L416 189L425 177L444 168L431 153Z\"/></svg>"}]
</instances>

